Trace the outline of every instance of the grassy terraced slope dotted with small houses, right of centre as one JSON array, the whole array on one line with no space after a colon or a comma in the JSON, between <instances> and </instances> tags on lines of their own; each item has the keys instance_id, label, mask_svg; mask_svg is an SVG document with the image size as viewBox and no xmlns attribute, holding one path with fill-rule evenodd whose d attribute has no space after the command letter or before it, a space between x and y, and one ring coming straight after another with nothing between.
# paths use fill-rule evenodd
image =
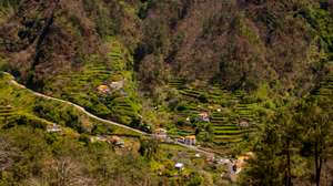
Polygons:
<instances>
[{"instance_id":1,"label":"grassy terraced slope dotted with small houses, right of centre","mask_svg":"<svg viewBox=\"0 0 333 186\"><path fill-rule=\"evenodd\" d=\"M230 93L208 82L185 83L172 79L167 89L179 92L175 111L178 135L196 135L204 144L224 146L249 140L251 131L261 122L258 111L264 108L261 101L246 101L244 91ZM199 114L208 113L210 121L201 122Z\"/></svg>"}]
</instances>

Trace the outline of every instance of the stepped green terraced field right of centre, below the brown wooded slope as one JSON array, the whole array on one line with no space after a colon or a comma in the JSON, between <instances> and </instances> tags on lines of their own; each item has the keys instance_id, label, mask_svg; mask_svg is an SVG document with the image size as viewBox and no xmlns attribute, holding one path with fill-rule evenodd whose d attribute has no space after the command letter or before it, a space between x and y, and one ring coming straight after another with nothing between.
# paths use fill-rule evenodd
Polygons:
<instances>
[{"instance_id":1,"label":"stepped green terraced field right of centre, below the brown wooded slope","mask_svg":"<svg viewBox=\"0 0 333 186\"><path fill-rule=\"evenodd\" d=\"M191 87L184 85L185 81L172 79L168 85L179 90L182 99L189 105L186 111L179 112L178 115L186 118L189 116L198 116L201 112L208 112L210 123L213 128L213 143L223 145L228 143L236 143L243 140L243 135L251 132L251 125L259 122L255 114L256 103L243 103L242 99L245 93L235 91L230 93L219 85L211 87ZM195 106L196 105L196 106ZM203 105L199 107L198 105ZM216 111L219 107L228 107L230 112ZM248 123L249 126L240 126L241 122ZM186 123L190 123L189 121ZM185 128L185 130L184 130ZM179 126L179 135L193 135L193 130L188 126Z\"/></svg>"}]
</instances>

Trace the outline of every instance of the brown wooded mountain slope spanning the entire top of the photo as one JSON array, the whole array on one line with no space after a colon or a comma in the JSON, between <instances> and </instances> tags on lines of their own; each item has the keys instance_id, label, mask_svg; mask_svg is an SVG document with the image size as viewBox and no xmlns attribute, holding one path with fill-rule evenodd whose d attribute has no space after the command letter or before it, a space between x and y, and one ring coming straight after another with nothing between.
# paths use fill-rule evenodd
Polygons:
<instances>
[{"instance_id":1,"label":"brown wooded mountain slope spanning the entire top of the photo","mask_svg":"<svg viewBox=\"0 0 333 186\"><path fill-rule=\"evenodd\" d=\"M42 90L49 78L80 71L91 54L107 62L104 43L115 37L134 53L144 86L171 75L232 90L269 82L302 92L313 85L319 62L332 59L330 6L310 0L3 1L1 55L10 61L7 69Z\"/></svg>"}]
</instances>

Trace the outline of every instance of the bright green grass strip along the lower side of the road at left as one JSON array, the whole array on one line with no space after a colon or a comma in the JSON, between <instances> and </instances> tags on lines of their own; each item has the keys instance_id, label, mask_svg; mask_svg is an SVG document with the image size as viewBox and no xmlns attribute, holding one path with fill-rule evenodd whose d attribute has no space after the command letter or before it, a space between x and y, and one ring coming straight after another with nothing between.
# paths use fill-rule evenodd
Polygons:
<instances>
[{"instance_id":1,"label":"bright green grass strip along the lower side of the road at left","mask_svg":"<svg viewBox=\"0 0 333 186\"><path fill-rule=\"evenodd\" d=\"M89 117L80 110L65 103L37 97L30 91L9 83L11 80L13 80L12 76L0 73L0 120L4 122L10 121L10 118L24 118L28 123L39 123L43 127L53 122L65 126L70 125L70 123L64 117L69 112L72 112L71 114L78 117L78 123L81 127L85 128L84 133L89 133L94 125L108 125L112 134L140 136L133 131ZM39 115L36 113L37 105L44 106L42 110L50 110L50 112Z\"/></svg>"}]
</instances>

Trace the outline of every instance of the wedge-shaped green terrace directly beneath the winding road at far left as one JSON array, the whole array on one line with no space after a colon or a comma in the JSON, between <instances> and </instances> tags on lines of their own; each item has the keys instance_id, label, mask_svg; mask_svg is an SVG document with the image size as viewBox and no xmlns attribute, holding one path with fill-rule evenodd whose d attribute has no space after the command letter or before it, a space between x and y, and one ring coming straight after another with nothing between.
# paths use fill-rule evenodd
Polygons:
<instances>
[{"instance_id":1,"label":"wedge-shaped green terrace directly beneath the winding road at far left","mask_svg":"<svg viewBox=\"0 0 333 186\"><path fill-rule=\"evenodd\" d=\"M139 136L137 132L90 117L81 110L54 100L47 100L10 83L12 76L0 72L0 124L32 124L46 128L53 123L84 134ZM98 130L94 130L98 128Z\"/></svg>"}]
</instances>

